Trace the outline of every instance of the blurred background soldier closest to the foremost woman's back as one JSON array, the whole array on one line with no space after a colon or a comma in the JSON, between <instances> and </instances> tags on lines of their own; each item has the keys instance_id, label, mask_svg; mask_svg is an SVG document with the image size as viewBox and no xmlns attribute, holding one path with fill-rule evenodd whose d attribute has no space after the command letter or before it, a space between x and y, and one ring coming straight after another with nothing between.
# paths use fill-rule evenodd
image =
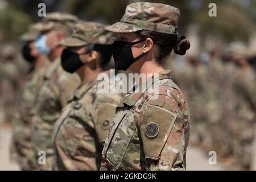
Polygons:
<instances>
[{"instance_id":1,"label":"blurred background soldier closest to the foremost woman's back","mask_svg":"<svg viewBox=\"0 0 256 182\"><path fill-rule=\"evenodd\" d=\"M192 65L187 61L182 68L177 64L172 64L174 71L172 76L179 87L184 90L187 98L189 111L191 111L191 136L189 142L193 145L202 146L204 144L212 144L212 138L209 135L207 110L205 109L205 101L207 97L207 76L208 68L205 65ZM200 104L199 104L200 103Z\"/></svg>"}]
</instances>

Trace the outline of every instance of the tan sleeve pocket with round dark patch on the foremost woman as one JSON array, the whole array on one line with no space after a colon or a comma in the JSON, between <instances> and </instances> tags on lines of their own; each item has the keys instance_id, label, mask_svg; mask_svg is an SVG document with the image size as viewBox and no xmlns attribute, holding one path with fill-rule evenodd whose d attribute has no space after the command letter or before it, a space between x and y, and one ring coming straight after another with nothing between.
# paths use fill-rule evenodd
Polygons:
<instances>
[{"instance_id":1,"label":"tan sleeve pocket with round dark patch on the foremost woman","mask_svg":"<svg viewBox=\"0 0 256 182\"><path fill-rule=\"evenodd\" d=\"M140 127L146 158L159 159L176 118L170 110L146 105Z\"/></svg>"}]
</instances>

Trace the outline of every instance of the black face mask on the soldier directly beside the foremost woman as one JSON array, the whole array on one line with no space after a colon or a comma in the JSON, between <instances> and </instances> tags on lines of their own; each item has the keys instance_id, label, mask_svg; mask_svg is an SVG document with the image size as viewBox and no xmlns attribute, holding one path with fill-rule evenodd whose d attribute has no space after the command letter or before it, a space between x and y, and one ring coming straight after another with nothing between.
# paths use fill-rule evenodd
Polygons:
<instances>
[{"instance_id":1,"label":"black face mask on the soldier directly beside the foremost woman","mask_svg":"<svg viewBox=\"0 0 256 182\"><path fill-rule=\"evenodd\" d=\"M78 54L65 48L61 54L61 66L63 67L63 69L69 73L73 73L77 69L82 67L84 63L82 63L82 61L79 58L79 55L82 54L85 53Z\"/></svg>"}]
</instances>

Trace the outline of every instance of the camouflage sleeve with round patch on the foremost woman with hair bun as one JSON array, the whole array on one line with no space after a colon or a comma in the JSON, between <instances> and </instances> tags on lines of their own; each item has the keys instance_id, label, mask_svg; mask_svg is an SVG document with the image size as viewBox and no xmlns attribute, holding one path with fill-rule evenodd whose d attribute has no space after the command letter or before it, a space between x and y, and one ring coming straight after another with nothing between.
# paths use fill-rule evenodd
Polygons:
<instances>
[{"instance_id":1,"label":"camouflage sleeve with round patch on the foremost woman with hair bun","mask_svg":"<svg viewBox=\"0 0 256 182\"><path fill-rule=\"evenodd\" d=\"M139 118L147 170L184 170L189 135L187 106L176 89L170 89L168 96L156 96L146 101Z\"/></svg>"}]
</instances>

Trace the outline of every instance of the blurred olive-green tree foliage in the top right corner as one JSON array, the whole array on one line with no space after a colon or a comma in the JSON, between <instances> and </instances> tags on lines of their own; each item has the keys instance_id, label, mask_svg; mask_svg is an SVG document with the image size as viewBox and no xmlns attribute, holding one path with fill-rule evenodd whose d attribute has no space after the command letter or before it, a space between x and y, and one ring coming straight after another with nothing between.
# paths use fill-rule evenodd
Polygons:
<instances>
[{"instance_id":1,"label":"blurred olive-green tree foliage in the top right corner","mask_svg":"<svg viewBox=\"0 0 256 182\"><path fill-rule=\"evenodd\" d=\"M236 1L218 1L217 17L208 15L208 5L203 2L199 11L195 12L193 22L200 27L200 36L216 36L224 42L242 40L247 42L255 30L253 16L242 8Z\"/></svg>"}]
</instances>

